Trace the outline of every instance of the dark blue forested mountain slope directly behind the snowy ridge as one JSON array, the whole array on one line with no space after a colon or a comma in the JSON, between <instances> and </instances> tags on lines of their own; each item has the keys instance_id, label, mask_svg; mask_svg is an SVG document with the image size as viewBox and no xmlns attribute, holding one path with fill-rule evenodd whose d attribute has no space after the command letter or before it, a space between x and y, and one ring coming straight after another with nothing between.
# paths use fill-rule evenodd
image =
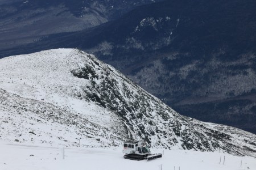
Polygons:
<instances>
[{"instance_id":1,"label":"dark blue forested mountain slope directly behind the snowy ridge","mask_svg":"<svg viewBox=\"0 0 256 170\"><path fill-rule=\"evenodd\" d=\"M181 114L256 133L255 8L255 1L164 1L2 54L80 48Z\"/></svg>"}]
</instances>

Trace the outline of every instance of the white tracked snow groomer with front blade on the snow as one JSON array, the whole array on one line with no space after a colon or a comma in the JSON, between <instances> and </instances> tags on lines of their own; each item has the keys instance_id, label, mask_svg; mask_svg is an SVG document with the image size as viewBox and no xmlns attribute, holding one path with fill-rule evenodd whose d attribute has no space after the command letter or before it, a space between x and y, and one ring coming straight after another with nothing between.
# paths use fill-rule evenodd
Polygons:
<instances>
[{"instance_id":1,"label":"white tracked snow groomer with front blade on the snow","mask_svg":"<svg viewBox=\"0 0 256 170\"><path fill-rule=\"evenodd\" d=\"M145 142L126 141L123 143L123 158L131 160L151 160L162 158L162 154L151 154L150 148Z\"/></svg>"}]
</instances>

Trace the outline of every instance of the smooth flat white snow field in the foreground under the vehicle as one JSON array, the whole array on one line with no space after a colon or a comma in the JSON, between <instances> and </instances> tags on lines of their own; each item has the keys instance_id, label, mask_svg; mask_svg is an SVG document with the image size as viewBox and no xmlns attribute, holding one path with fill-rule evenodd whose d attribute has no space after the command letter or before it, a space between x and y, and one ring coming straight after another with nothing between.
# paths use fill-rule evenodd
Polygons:
<instances>
[{"instance_id":1,"label":"smooth flat white snow field in the foreground under the vehicle","mask_svg":"<svg viewBox=\"0 0 256 170\"><path fill-rule=\"evenodd\" d=\"M163 170L256 169L255 158L248 156L233 156L222 154L220 152L151 149L151 152L154 153L164 153L163 158L149 161L136 161L123 159L122 147L66 147L64 159L63 148L14 145L11 143L0 143L0 148L0 169L3 170L160 170L161 168ZM224 156L225 164L223 164Z\"/></svg>"}]
</instances>

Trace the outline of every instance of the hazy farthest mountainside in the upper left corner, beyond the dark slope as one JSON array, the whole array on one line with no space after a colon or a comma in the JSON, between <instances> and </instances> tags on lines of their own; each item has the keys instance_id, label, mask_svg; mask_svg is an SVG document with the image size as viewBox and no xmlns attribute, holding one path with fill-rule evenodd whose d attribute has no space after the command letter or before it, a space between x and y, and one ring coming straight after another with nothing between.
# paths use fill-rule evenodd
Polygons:
<instances>
[{"instance_id":1,"label":"hazy farthest mountainside in the upper left corner, beyond the dark slope","mask_svg":"<svg viewBox=\"0 0 256 170\"><path fill-rule=\"evenodd\" d=\"M0 50L40 41L53 33L88 29L146 3L152 1L3 1L0 2Z\"/></svg>"}]
</instances>

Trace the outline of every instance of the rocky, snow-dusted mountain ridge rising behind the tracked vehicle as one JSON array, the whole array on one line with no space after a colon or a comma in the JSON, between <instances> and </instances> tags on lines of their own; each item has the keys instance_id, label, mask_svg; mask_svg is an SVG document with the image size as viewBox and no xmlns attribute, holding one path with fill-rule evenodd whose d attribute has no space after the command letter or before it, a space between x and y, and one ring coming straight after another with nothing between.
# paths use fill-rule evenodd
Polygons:
<instances>
[{"instance_id":1,"label":"rocky, snow-dusted mountain ridge rising behind the tracked vehicle","mask_svg":"<svg viewBox=\"0 0 256 170\"><path fill-rule=\"evenodd\" d=\"M0 59L0 139L51 146L224 151L256 157L256 136L181 116L112 66L77 49Z\"/></svg>"}]
</instances>

